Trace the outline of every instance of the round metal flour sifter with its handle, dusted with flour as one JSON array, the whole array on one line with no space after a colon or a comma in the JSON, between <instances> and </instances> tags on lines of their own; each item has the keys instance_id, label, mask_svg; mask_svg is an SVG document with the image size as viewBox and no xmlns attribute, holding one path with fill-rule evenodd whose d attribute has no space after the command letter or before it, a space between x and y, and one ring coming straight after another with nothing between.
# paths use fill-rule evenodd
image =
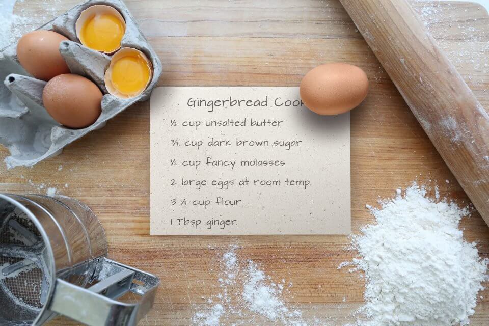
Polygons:
<instances>
[{"instance_id":1,"label":"round metal flour sifter with its handle, dusted with flour","mask_svg":"<svg viewBox=\"0 0 489 326\"><path fill-rule=\"evenodd\" d=\"M0 194L0 325L58 314L87 325L136 325L159 279L107 258L102 225L64 196ZM139 301L116 299L139 295Z\"/></svg>"}]
</instances>

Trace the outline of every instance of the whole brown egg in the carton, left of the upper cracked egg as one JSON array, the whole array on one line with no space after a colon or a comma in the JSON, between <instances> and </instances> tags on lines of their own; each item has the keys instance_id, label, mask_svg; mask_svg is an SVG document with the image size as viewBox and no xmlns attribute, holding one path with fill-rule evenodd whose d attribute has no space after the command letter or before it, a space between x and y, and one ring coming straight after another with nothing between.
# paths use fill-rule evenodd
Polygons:
<instances>
[{"instance_id":1,"label":"whole brown egg in the carton, left of the upper cracked egg","mask_svg":"<svg viewBox=\"0 0 489 326\"><path fill-rule=\"evenodd\" d=\"M60 53L60 43L68 39L52 31L38 30L25 34L17 43L20 65L38 79L70 73Z\"/></svg>"}]
</instances>

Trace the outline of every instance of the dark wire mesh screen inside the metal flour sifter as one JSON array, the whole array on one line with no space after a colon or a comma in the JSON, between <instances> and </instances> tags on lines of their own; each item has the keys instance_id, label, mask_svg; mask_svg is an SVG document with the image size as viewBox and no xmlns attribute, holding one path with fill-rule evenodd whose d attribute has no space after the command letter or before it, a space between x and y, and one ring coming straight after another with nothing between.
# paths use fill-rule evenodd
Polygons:
<instances>
[{"instance_id":1,"label":"dark wire mesh screen inside the metal flour sifter","mask_svg":"<svg viewBox=\"0 0 489 326\"><path fill-rule=\"evenodd\" d=\"M12 227L11 220L15 220L15 228ZM29 235L30 233L30 235ZM25 236L28 234L29 236ZM42 238L34 224L18 210L13 210L0 225L0 289L4 292L3 297L9 298L14 305L20 305L23 308L39 311L42 308L41 289L43 283L43 271L39 264L30 264L22 267L8 275L3 275L6 267L12 266L26 259L27 255L38 255L38 261L42 255L37 251L31 250L36 243L42 241ZM15 251L12 246L25 249Z\"/></svg>"}]
</instances>

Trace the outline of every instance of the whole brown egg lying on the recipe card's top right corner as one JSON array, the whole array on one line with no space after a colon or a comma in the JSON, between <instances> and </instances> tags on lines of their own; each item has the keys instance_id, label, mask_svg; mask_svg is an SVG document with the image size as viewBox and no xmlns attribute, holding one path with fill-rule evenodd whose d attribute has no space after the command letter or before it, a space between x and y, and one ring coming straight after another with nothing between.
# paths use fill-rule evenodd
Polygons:
<instances>
[{"instance_id":1,"label":"whole brown egg lying on the recipe card's top right corner","mask_svg":"<svg viewBox=\"0 0 489 326\"><path fill-rule=\"evenodd\" d=\"M301 82L301 99L320 115L337 115L357 107L367 96L368 78L357 66L333 63L310 70Z\"/></svg>"}]
</instances>

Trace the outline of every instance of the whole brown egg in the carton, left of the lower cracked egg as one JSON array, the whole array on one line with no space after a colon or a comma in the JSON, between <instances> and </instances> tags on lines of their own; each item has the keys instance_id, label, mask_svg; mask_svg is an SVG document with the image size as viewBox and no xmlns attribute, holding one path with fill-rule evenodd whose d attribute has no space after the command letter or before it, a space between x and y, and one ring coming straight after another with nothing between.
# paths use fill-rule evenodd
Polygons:
<instances>
[{"instance_id":1,"label":"whole brown egg in the carton, left of the lower cracked egg","mask_svg":"<svg viewBox=\"0 0 489 326\"><path fill-rule=\"evenodd\" d=\"M62 125L85 128L97 121L102 112L102 92L91 80L63 74L47 82L42 101L49 115Z\"/></svg>"}]
</instances>

